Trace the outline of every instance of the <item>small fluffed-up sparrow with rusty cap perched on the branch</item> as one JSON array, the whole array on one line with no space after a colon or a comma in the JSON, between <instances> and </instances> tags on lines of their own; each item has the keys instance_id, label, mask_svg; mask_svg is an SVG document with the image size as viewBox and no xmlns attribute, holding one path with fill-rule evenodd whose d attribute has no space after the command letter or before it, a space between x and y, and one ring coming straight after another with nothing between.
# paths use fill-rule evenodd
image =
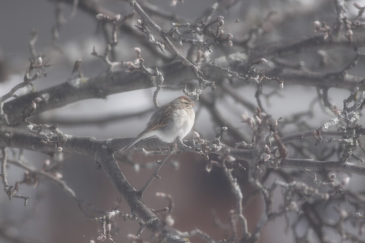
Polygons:
<instances>
[{"instance_id":1,"label":"small fluffed-up sparrow with rusty cap perched on the branch","mask_svg":"<svg viewBox=\"0 0 365 243\"><path fill-rule=\"evenodd\" d=\"M153 113L145 130L137 135L132 141L128 142L120 152L124 152L137 142L157 137L162 142L171 143L177 137L184 138L193 128L195 103L186 96L180 96L173 101L161 106Z\"/></svg>"}]
</instances>

